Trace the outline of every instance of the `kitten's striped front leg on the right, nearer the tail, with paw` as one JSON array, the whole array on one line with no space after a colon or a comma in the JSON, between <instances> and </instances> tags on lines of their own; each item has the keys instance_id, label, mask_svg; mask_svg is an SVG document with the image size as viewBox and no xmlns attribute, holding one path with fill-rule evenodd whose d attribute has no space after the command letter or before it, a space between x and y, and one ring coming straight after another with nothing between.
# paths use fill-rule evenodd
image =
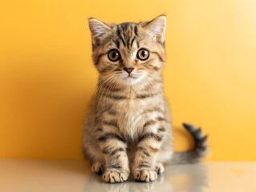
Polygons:
<instances>
[{"instance_id":1,"label":"kitten's striped front leg on the right, nearer the tail, with paw","mask_svg":"<svg viewBox=\"0 0 256 192\"><path fill-rule=\"evenodd\" d=\"M148 121L144 126L144 133L140 136L132 174L136 181L152 182L157 178L157 172L163 172L162 164L156 162L156 154L161 148L165 127L162 123Z\"/></svg>"}]
</instances>

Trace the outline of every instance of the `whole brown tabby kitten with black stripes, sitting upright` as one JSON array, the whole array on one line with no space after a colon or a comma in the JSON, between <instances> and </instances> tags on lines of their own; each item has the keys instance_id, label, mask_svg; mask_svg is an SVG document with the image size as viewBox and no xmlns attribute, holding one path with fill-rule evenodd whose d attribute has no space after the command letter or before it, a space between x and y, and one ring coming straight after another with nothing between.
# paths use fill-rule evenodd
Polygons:
<instances>
[{"instance_id":1,"label":"whole brown tabby kitten with black stripes, sitting upright","mask_svg":"<svg viewBox=\"0 0 256 192\"><path fill-rule=\"evenodd\" d=\"M166 162L198 162L206 136L184 124L193 150L173 154L172 127L164 94L166 18L106 24L89 19L98 90L84 126L83 151L104 182L150 182Z\"/></svg>"}]
</instances>

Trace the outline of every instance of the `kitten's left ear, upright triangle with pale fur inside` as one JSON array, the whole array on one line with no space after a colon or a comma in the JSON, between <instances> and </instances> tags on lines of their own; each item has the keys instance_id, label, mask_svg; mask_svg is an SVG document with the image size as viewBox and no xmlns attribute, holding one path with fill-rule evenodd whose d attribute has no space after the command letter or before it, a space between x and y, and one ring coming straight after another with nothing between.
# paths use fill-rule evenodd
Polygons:
<instances>
[{"instance_id":1,"label":"kitten's left ear, upright triangle with pale fur inside","mask_svg":"<svg viewBox=\"0 0 256 192\"><path fill-rule=\"evenodd\" d=\"M88 22L93 45L95 45L95 43L99 43L101 38L111 30L110 26L104 22L100 22L98 19L89 18Z\"/></svg>"}]
</instances>

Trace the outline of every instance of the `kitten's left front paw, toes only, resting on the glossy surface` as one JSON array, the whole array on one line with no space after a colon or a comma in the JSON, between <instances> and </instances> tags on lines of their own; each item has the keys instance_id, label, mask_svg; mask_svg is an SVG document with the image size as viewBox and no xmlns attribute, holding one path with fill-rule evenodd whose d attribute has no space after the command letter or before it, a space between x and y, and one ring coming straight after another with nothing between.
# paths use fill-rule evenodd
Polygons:
<instances>
[{"instance_id":1,"label":"kitten's left front paw, toes only, resting on the glossy surface","mask_svg":"<svg viewBox=\"0 0 256 192\"><path fill-rule=\"evenodd\" d=\"M106 170L102 175L104 182L125 182L129 174L124 170Z\"/></svg>"}]
</instances>

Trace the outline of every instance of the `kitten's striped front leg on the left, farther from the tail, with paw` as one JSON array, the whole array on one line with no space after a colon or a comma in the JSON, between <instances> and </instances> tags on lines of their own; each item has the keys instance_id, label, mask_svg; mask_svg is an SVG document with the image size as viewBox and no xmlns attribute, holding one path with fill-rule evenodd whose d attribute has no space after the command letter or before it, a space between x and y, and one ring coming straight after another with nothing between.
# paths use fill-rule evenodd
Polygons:
<instances>
[{"instance_id":1,"label":"kitten's striped front leg on the left, farther from the tail, with paw","mask_svg":"<svg viewBox=\"0 0 256 192\"><path fill-rule=\"evenodd\" d=\"M104 182L124 182L128 179L129 167L126 144L120 135L109 131L98 138L104 154Z\"/></svg>"}]
</instances>

